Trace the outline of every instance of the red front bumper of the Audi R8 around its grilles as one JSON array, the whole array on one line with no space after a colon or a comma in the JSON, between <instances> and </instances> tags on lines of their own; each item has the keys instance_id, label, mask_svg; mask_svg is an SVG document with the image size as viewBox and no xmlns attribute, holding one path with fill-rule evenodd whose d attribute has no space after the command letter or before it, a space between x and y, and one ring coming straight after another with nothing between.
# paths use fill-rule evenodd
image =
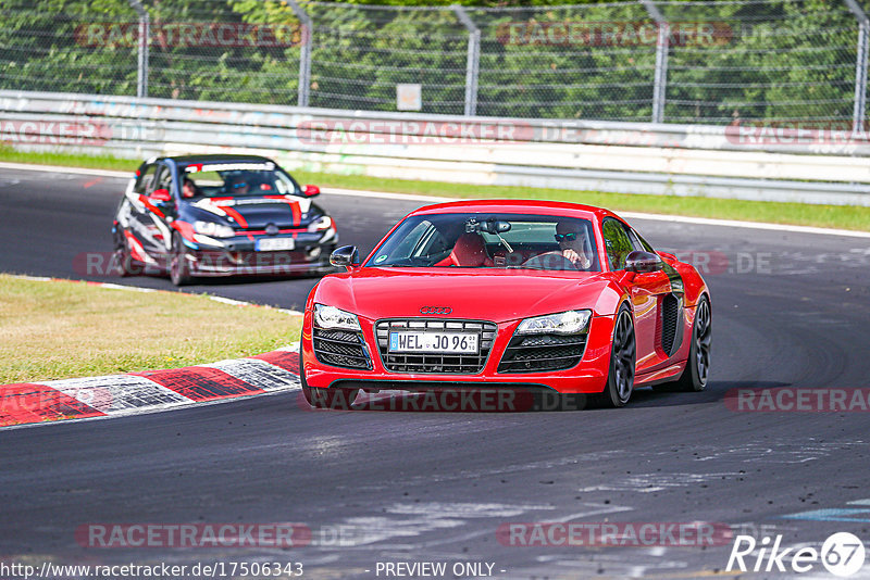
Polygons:
<instances>
[{"instance_id":1,"label":"red front bumper of the Audi R8 around its grilles","mask_svg":"<svg viewBox=\"0 0 870 580\"><path fill-rule=\"evenodd\" d=\"M519 320L497 325L496 337L483 370L459 373L396 373L386 368L375 341L374 321L360 318L362 338L369 355L369 368L341 368L318 360L313 349L313 326L306 313L300 363L306 382L316 388L352 388L364 390L401 389L427 391L434 389L545 389L560 393L600 393L605 389L610 365L613 319L594 316L585 350L579 364L563 370L535 373L499 373L505 349L513 337Z\"/></svg>"}]
</instances>

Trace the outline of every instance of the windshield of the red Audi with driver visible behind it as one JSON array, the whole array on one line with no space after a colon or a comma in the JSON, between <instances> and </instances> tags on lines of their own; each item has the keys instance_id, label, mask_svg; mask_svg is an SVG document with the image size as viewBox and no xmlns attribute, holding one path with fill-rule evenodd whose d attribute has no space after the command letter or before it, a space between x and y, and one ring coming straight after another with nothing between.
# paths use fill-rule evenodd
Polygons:
<instances>
[{"instance_id":1,"label":"windshield of the red Audi with driver visible behind it","mask_svg":"<svg viewBox=\"0 0 870 580\"><path fill-rule=\"evenodd\" d=\"M411 216L365 266L600 272L588 219L529 214Z\"/></svg>"}]
</instances>

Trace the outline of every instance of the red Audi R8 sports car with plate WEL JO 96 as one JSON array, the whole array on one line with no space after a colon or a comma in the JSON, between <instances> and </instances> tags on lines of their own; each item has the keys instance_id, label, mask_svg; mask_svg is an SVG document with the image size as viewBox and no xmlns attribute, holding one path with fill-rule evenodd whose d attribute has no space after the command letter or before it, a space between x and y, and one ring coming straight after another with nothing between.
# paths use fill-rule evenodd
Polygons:
<instances>
[{"instance_id":1,"label":"red Audi R8 sports car with plate WEL JO 96","mask_svg":"<svg viewBox=\"0 0 870 580\"><path fill-rule=\"evenodd\" d=\"M360 264L332 263L304 312L309 404L360 390L531 389L610 406L642 386L700 391L709 290L616 214L547 201L421 207Z\"/></svg>"}]
</instances>

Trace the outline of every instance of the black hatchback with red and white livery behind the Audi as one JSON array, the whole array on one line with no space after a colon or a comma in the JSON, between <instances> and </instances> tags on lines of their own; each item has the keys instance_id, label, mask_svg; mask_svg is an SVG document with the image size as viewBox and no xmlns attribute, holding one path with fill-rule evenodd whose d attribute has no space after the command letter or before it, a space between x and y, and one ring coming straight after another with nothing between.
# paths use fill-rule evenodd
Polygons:
<instances>
[{"instance_id":1,"label":"black hatchback with red and white livery behind the Audi","mask_svg":"<svg viewBox=\"0 0 870 580\"><path fill-rule=\"evenodd\" d=\"M274 161L254 155L152 157L130 179L112 234L122 276L332 272L335 222Z\"/></svg>"}]
</instances>

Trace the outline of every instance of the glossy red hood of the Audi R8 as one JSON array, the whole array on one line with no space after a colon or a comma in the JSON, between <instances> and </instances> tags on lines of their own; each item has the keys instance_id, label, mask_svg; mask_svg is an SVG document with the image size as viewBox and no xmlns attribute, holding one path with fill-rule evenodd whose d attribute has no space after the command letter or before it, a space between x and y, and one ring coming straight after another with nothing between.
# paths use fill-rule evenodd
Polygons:
<instances>
[{"instance_id":1,"label":"glossy red hood of the Audi R8","mask_svg":"<svg viewBox=\"0 0 870 580\"><path fill-rule=\"evenodd\" d=\"M421 316L451 308L449 318L502 323L572 308L595 308L609 275L518 269L375 268L326 276L314 302L370 319ZM600 313L599 313L600 314Z\"/></svg>"}]
</instances>

